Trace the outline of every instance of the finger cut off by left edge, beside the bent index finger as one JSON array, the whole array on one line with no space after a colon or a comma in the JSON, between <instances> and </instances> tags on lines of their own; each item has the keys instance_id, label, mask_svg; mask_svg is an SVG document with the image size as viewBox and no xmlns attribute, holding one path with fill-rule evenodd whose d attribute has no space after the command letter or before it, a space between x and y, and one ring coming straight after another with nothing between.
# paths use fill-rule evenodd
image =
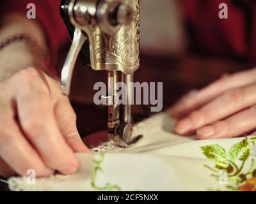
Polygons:
<instances>
[{"instance_id":1,"label":"finger cut off by left edge, beside the bent index finger","mask_svg":"<svg viewBox=\"0 0 256 204\"><path fill-rule=\"evenodd\" d=\"M38 177L53 173L29 145L14 121L1 120L0 133L0 157L15 172L26 175L29 169L33 169Z\"/></svg>"}]
</instances>

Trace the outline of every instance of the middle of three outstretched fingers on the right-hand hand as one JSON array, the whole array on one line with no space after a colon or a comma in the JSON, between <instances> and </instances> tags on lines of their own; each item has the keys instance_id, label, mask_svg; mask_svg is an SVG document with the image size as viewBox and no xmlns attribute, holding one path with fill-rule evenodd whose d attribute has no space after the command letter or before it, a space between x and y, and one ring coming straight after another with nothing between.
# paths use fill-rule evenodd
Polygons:
<instances>
[{"instance_id":1,"label":"middle of three outstretched fingers on the right-hand hand","mask_svg":"<svg viewBox=\"0 0 256 204\"><path fill-rule=\"evenodd\" d=\"M256 84L228 91L199 110L177 122L175 132L186 135L217 120L233 115L256 102Z\"/></svg>"}]
</instances>

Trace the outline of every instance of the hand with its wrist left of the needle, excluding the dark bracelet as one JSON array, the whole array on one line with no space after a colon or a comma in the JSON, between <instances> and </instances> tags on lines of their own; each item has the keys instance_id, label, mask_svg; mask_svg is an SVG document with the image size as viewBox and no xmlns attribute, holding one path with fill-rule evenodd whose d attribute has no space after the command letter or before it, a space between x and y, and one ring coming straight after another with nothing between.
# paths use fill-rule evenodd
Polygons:
<instances>
[{"instance_id":1,"label":"hand with its wrist left of the needle, excluding the dark bracelet","mask_svg":"<svg viewBox=\"0 0 256 204\"><path fill-rule=\"evenodd\" d=\"M47 47L36 20L19 14L1 20L0 41L26 33ZM89 150L60 83L42 71L49 70L48 63L26 42L11 43L0 51L0 176L26 175L30 169L36 177L55 170L74 173L79 166L74 152Z\"/></svg>"}]
</instances>

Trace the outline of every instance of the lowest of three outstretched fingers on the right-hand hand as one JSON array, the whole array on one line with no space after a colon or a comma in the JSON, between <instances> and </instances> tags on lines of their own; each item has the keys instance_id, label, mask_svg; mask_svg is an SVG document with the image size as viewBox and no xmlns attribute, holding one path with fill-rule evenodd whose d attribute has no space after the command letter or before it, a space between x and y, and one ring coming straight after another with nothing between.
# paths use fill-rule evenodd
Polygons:
<instances>
[{"instance_id":1,"label":"lowest of three outstretched fingers on the right-hand hand","mask_svg":"<svg viewBox=\"0 0 256 204\"><path fill-rule=\"evenodd\" d=\"M232 138L252 132L256 128L256 106L247 108L226 120L198 129L200 139Z\"/></svg>"}]
</instances>

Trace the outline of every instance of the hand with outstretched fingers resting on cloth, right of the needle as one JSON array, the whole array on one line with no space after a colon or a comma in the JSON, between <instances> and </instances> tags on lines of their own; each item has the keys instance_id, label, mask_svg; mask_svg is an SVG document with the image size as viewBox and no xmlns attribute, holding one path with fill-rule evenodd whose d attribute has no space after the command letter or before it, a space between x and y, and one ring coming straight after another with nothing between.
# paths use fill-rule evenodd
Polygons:
<instances>
[{"instance_id":1,"label":"hand with outstretched fingers resting on cloth, right of the needle","mask_svg":"<svg viewBox=\"0 0 256 204\"><path fill-rule=\"evenodd\" d=\"M175 133L200 139L232 138L256 129L256 68L225 76L171 109Z\"/></svg>"}]
</instances>

